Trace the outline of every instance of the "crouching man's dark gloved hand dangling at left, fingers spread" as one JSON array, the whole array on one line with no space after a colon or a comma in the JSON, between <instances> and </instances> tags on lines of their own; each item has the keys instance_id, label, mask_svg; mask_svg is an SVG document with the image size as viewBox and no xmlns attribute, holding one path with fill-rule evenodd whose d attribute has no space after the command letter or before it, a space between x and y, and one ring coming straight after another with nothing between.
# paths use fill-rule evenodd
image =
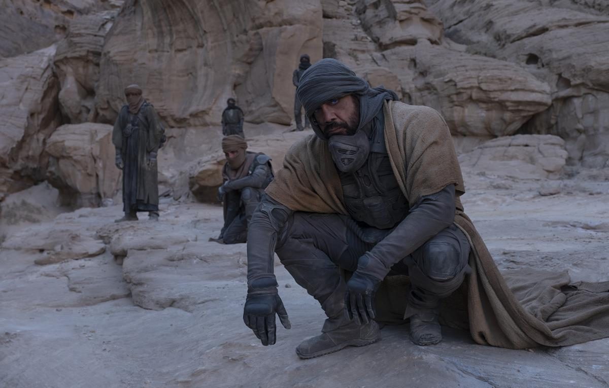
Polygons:
<instances>
[{"instance_id":1,"label":"crouching man's dark gloved hand dangling at left, fingers spread","mask_svg":"<svg viewBox=\"0 0 609 388\"><path fill-rule=\"evenodd\" d=\"M262 345L274 345L276 341L275 314L286 329L292 327L281 298L274 291L248 291L243 309L243 322L254 331Z\"/></svg>"}]
</instances>

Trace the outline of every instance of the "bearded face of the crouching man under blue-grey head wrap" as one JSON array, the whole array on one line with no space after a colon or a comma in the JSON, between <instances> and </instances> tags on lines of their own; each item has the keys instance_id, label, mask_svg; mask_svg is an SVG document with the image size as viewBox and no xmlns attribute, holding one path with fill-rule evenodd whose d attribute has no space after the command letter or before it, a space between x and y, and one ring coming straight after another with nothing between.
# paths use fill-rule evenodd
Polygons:
<instances>
[{"instance_id":1,"label":"bearded face of the crouching man under blue-grey head wrap","mask_svg":"<svg viewBox=\"0 0 609 388\"><path fill-rule=\"evenodd\" d=\"M359 101L352 94L332 99L315 109L313 117L326 137L353 135L359 126Z\"/></svg>"}]
</instances>

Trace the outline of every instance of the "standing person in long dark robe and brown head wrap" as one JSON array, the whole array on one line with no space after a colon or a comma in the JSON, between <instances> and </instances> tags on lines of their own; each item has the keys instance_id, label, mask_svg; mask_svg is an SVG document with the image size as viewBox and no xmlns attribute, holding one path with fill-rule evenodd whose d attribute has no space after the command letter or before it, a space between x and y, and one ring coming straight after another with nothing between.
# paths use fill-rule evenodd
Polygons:
<instances>
[{"instance_id":1,"label":"standing person in long dark robe and brown head wrap","mask_svg":"<svg viewBox=\"0 0 609 388\"><path fill-rule=\"evenodd\" d=\"M163 125L138 85L127 86L125 98L127 105L121 108L112 131L116 167L122 170L125 212L116 222L136 221L137 212L148 212L150 220L158 221L157 153L165 139Z\"/></svg>"}]
</instances>

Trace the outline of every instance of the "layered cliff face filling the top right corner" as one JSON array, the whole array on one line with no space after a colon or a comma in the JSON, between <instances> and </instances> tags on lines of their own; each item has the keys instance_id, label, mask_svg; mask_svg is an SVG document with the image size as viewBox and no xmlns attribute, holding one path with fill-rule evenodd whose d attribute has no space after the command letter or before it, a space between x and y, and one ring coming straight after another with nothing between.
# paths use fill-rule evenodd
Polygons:
<instances>
[{"instance_id":1,"label":"layered cliff face filling the top right corner","mask_svg":"<svg viewBox=\"0 0 609 388\"><path fill-rule=\"evenodd\" d=\"M554 4L557 3L557 4ZM552 106L523 133L567 142L569 164L609 161L609 13L606 2L428 1L446 36L484 55L511 61L545 81Z\"/></svg>"}]
</instances>

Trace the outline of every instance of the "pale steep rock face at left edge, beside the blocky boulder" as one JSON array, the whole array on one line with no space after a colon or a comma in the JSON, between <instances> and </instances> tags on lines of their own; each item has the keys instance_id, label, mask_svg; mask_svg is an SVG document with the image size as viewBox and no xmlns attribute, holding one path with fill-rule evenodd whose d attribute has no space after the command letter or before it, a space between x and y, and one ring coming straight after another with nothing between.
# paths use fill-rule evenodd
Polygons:
<instances>
[{"instance_id":1,"label":"pale steep rock face at left edge, beside the blocky boulder","mask_svg":"<svg viewBox=\"0 0 609 388\"><path fill-rule=\"evenodd\" d=\"M0 60L0 201L42 181L44 143L61 122L55 46Z\"/></svg>"}]
</instances>

